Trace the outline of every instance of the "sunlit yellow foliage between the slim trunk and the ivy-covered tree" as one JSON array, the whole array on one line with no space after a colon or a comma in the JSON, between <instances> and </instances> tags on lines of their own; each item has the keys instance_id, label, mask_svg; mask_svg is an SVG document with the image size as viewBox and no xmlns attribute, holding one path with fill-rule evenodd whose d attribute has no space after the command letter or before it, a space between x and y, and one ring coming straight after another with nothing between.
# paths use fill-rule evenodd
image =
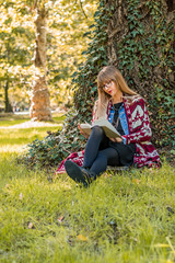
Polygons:
<instances>
[{"instance_id":1,"label":"sunlit yellow foliage between the slim trunk and the ivy-covered tree","mask_svg":"<svg viewBox=\"0 0 175 263\"><path fill-rule=\"evenodd\" d=\"M71 76L78 66L85 60L82 52L90 39L85 35L93 23L96 0L55 1L48 16L48 87L54 107L62 102L72 104L73 89Z\"/></svg>"}]
</instances>

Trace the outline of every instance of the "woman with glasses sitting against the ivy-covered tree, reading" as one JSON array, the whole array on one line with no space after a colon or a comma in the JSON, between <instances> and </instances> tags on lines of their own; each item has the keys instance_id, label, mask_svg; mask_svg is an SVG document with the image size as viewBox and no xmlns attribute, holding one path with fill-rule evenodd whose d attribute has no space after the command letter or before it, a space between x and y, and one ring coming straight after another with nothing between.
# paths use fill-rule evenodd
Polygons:
<instances>
[{"instance_id":1,"label":"woman with glasses sitting against the ivy-covered tree, reading","mask_svg":"<svg viewBox=\"0 0 175 263\"><path fill-rule=\"evenodd\" d=\"M114 66L107 66L100 71L97 88L98 100L92 122L101 117L107 118L122 139L107 138L102 127L94 126L86 142L83 165L78 165L71 158L65 161L68 175L86 186L106 171L107 165L159 167L160 157L150 142L152 133L144 100L128 88ZM80 125L78 127L83 134Z\"/></svg>"}]
</instances>

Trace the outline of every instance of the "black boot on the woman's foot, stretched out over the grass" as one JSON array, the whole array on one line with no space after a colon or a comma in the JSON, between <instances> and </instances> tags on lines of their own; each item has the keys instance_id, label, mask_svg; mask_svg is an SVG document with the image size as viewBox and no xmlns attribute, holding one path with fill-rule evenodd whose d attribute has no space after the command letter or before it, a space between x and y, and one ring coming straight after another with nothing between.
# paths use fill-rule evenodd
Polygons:
<instances>
[{"instance_id":1,"label":"black boot on the woman's foot, stretched out over the grass","mask_svg":"<svg viewBox=\"0 0 175 263\"><path fill-rule=\"evenodd\" d=\"M90 185L96 179L95 174L84 168L79 167L77 163L67 160L65 169L68 175L77 183L82 183L84 186Z\"/></svg>"}]
</instances>

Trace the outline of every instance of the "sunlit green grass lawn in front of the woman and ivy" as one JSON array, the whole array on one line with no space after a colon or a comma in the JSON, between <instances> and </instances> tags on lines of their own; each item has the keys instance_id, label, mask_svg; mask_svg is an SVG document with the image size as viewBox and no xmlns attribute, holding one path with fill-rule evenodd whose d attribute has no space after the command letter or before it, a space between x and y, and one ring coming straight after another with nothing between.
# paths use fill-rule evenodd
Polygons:
<instances>
[{"instance_id":1,"label":"sunlit green grass lawn in front of the woman and ivy","mask_svg":"<svg viewBox=\"0 0 175 263\"><path fill-rule=\"evenodd\" d=\"M0 262L175 262L175 169L103 174L83 188L16 164L27 142L57 128L0 129Z\"/></svg>"}]
</instances>

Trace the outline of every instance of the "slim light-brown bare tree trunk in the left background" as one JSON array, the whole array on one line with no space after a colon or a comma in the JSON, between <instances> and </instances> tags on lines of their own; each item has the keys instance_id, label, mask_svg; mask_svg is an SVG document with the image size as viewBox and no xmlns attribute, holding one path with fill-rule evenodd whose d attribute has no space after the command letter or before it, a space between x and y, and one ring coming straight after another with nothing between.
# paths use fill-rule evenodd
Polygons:
<instances>
[{"instance_id":1,"label":"slim light-brown bare tree trunk in the left background","mask_svg":"<svg viewBox=\"0 0 175 263\"><path fill-rule=\"evenodd\" d=\"M30 114L33 121L51 121L49 91L46 82L46 10L37 8L34 85Z\"/></svg>"}]
</instances>

